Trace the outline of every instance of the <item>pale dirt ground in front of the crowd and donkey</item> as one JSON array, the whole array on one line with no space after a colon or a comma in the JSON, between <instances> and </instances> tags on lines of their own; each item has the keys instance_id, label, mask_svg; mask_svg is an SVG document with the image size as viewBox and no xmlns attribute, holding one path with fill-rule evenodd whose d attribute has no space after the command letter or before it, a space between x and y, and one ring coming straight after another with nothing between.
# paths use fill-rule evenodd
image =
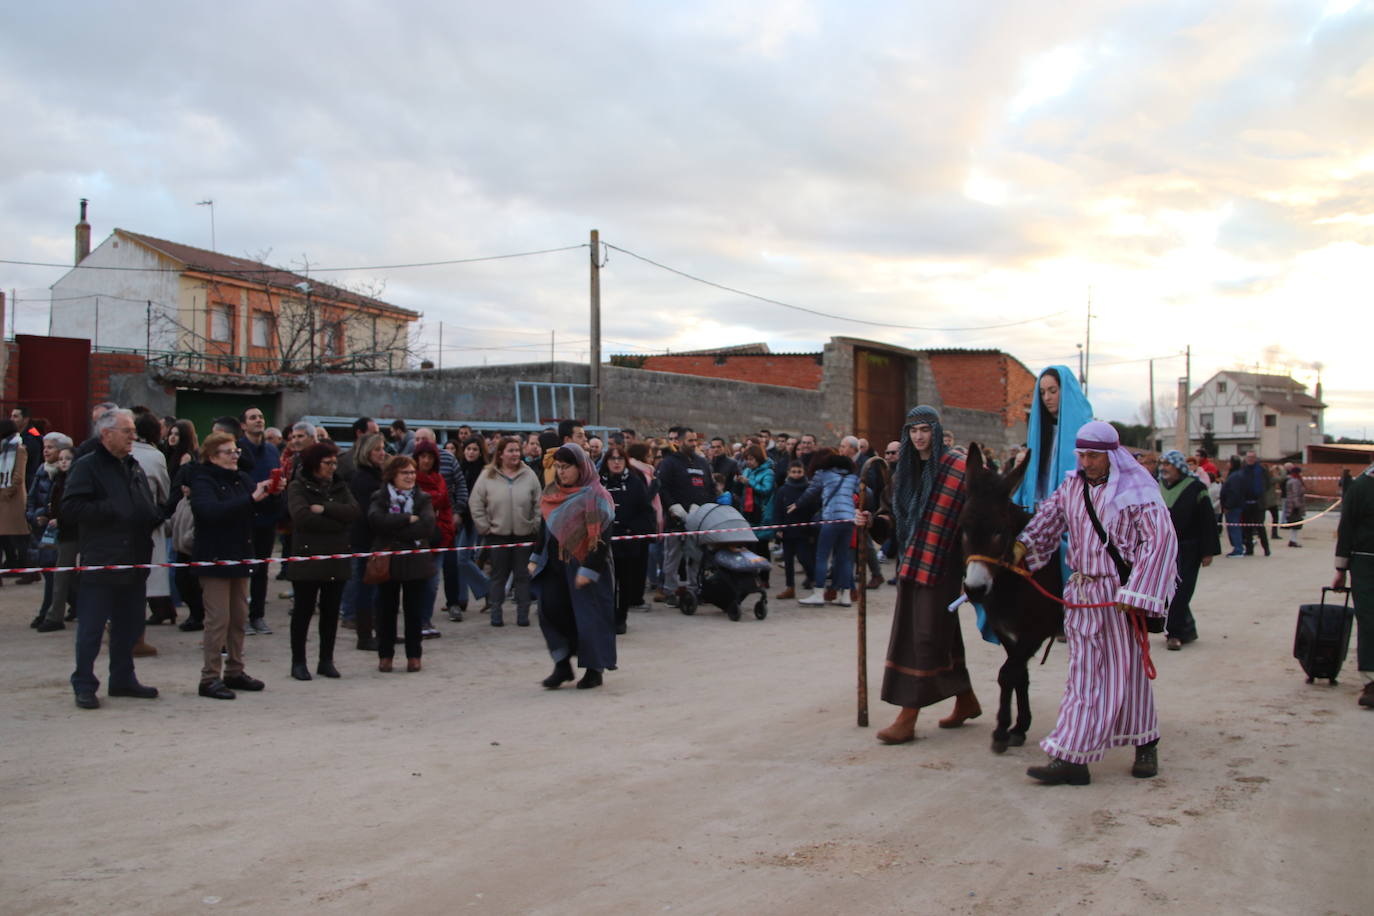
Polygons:
<instances>
[{"instance_id":1,"label":"pale dirt ground in front of the crowd and donkey","mask_svg":"<svg viewBox=\"0 0 1374 916\"><path fill-rule=\"evenodd\" d=\"M1333 538L1323 518L1304 549L1204 570L1201 640L1153 645L1160 776L1117 750L1087 787L1025 776L1062 645L1032 672L1032 742L989 751L1002 652L967 608L982 718L940 731L945 705L914 744L875 743L889 586L870 592L860 729L852 610L772 602L732 623L660 604L603 688L548 692L537 626L475 614L438 623L419 674L344 641L342 680L293 681L273 600L276 633L247 640L265 692L198 698L199 634L158 626L137 669L162 696L102 688L82 711L73 630L29 630L41 585L7 582L0 911L1367 913L1374 711L1353 647L1337 687L1292 658Z\"/></svg>"}]
</instances>

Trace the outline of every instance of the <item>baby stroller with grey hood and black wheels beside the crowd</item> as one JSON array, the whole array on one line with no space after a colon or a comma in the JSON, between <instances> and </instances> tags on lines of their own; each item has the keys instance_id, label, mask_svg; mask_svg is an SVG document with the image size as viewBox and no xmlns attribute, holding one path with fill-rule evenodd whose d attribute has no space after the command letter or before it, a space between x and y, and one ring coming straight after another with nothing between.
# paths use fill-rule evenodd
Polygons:
<instances>
[{"instance_id":1,"label":"baby stroller with grey hood and black wheels beside the crowd","mask_svg":"<svg viewBox=\"0 0 1374 916\"><path fill-rule=\"evenodd\" d=\"M705 602L738 621L739 606L757 593L754 617L760 621L768 617L768 592L758 578L768 569L768 559L750 549L758 537L749 530L745 516L730 505L706 503L692 507L684 530L703 534L688 537L683 545L688 588L679 593L677 608L683 614L695 614L698 602Z\"/></svg>"}]
</instances>

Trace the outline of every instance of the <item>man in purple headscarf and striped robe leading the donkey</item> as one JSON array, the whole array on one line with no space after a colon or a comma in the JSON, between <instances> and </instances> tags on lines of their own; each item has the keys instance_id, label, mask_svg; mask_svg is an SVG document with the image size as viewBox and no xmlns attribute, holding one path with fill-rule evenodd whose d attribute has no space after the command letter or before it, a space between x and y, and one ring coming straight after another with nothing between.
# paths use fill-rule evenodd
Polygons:
<instances>
[{"instance_id":1,"label":"man in purple headscarf and striped robe leading the donkey","mask_svg":"<svg viewBox=\"0 0 1374 916\"><path fill-rule=\"evenodd\" d=\"M1087 786L1088 764L1123 744L1136 748L1132 776L1158 772L1160 724L1135 629L1145 621L1132 618L1165 617L1178 573L1178 538L1160 486L1121 448L1116 428L1085 423L1074 448L1081 470L1040 503L1015 545L1017 558L1037 570L1068 531L1074 570L1063 586L1069 681L1059 720L1040 742L1050 762L1026 770L1051 786Z\"/></svg>"}]
</instances>

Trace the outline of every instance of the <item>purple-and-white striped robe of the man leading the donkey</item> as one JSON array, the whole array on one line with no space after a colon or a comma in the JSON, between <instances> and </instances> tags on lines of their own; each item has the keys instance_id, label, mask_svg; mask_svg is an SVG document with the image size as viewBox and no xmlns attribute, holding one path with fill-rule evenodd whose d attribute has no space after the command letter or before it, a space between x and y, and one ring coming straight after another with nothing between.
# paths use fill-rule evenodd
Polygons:
<instances>
[{"instance_id":1,"label":"purple-and-white striped robe of the man leading the donkey","mask_svg":"<svg viewBox=\"0 0 1374 916\"><path fill-rule=\"evenodd\" d=\"M1092 488L1092 507L1107 537L1132 564L1121 585L1116 566L1092 529L1083 505L1080 477L1069 477L1040 503L1020 541L1032 570L1044 566L1069 534L1069 566L1077 573L1065 584L1063 597L1077 604L1120 602L1165 617L1178 577L1178 538L1169 512L1160 504L1106 511L1102 486ZM1069 680L1059 720L1040 747L1070 764L1092 764L1106 748L1146 744L1160 736L1154 694L1140 661L1131 621L1114 607L1065 608L1069 641Z\"/></svg>"}]
</instances>

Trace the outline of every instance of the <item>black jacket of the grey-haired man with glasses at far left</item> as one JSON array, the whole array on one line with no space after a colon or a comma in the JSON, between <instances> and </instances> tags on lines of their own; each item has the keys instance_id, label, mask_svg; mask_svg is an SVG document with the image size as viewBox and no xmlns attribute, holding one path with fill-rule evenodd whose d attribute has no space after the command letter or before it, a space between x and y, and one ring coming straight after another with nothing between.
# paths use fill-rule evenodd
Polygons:
<instances>
[{"instance_id":1,"label":"black jacket of the grey-haired man with glasses at far left","mask_svg":"<svg viewBox=\"0 0 1374 916\"><path fill-rule=\"evenodd\" d=\"M133 456L117 459L99 442L71 466L62 492L62 518L78 526L77 549L88 566L147 563L153 559L153 529L164 520L148 478ZM81 577L102 585L137 585L148 578L148 570Z\"/></svg>"}]
</instances>

